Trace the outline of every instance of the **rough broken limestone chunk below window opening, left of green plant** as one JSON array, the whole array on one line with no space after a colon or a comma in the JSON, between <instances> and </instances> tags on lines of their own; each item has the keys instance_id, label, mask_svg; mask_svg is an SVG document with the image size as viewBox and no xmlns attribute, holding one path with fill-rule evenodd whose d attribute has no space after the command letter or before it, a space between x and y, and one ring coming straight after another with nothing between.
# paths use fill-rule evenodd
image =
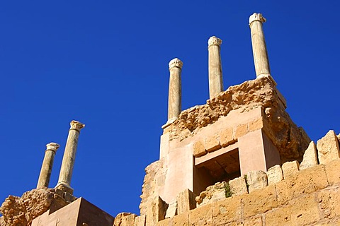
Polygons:
<instances>
[{"instance_id":1,"label":"rough broken limestone chunk below window opening, left of green plant","mask_svg":"<svg viewBox=\"0 0 340 226\"><path fill-rule=\"evenodd\" d=\"M227 192L229 192L229 184L227 182L217 182L212 186L208 186L205 191L200 193L200 196L196 197L198 206L203 206L208 203L226 198Z\"/></svg>"}]
</instances>

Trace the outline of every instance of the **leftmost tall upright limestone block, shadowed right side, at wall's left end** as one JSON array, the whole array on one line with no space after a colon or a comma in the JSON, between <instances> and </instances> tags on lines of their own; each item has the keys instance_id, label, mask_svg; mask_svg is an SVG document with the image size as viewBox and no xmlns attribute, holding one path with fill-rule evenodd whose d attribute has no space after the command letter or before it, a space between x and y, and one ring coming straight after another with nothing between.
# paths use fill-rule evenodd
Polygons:
<instances>
[{"instance_id":1,"label":"leftmost tall upright limestone block, shadowed right side, at wall's left end","mask_svg":"<svg viewBox=\"0 0 340 226\"><path fill-rule=\"evenodd\" d=\"M165 219L168 204L157 196L147 203L147 225L156 225L160 220Z\"/></svg>"}]
</instances>

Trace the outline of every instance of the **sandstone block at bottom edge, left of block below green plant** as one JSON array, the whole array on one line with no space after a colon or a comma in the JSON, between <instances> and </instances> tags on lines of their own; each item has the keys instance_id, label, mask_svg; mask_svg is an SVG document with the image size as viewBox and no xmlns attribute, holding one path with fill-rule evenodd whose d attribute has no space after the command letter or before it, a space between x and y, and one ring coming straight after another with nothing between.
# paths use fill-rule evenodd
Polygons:
<instances>
[{"instance_id":1,"label":"sandstone block at bottom edge, left of block below green plant","mask_svg":"<svg viewBox=\"0 0 340 226\"><path fill-rule=\"evenodd\" d=\"M202 226L212 224L212 203L200 206L189 212L189 225Z\"/></svg>"}]
</instances>

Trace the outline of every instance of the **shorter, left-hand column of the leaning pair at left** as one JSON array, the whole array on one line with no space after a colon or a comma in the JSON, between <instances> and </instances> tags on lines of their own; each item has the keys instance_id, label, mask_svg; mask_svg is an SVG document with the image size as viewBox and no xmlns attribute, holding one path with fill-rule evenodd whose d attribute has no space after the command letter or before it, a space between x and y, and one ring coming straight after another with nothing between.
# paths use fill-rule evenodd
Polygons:
<instances>
[{"instance_id":1,"label":"shorter, left-hand column of the leaning pair at left","mask_svg":"<svg viewBox=\"0 0 340 226\"><path fill-rule=\"evenodd\" d=\"M55 160L55 153L57 152L57 149L59 147L60 145L57 143L47 143L45 157L42 161L42 166L38 179L37 189L48 187L48 184L50 184L53 161Z\"/></svg>"}]
</instances>

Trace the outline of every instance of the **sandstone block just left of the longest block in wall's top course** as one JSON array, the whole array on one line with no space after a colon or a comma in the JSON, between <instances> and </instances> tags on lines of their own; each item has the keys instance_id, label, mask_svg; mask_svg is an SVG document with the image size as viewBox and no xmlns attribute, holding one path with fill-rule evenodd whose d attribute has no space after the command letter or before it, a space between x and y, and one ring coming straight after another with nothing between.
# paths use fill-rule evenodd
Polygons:
<instances>
[{"instance_id":1,"label":"sandstone block just left of the longest block in wall's top course","mask_svg":"<svg viewBox=\"0 0 340 226\"><path fill-rule=\"evenodd\" d=\"M265 213L278 206L275 185L266 186L240 197L242 198L243 218Z\"/></svg>"}]
</instances>

